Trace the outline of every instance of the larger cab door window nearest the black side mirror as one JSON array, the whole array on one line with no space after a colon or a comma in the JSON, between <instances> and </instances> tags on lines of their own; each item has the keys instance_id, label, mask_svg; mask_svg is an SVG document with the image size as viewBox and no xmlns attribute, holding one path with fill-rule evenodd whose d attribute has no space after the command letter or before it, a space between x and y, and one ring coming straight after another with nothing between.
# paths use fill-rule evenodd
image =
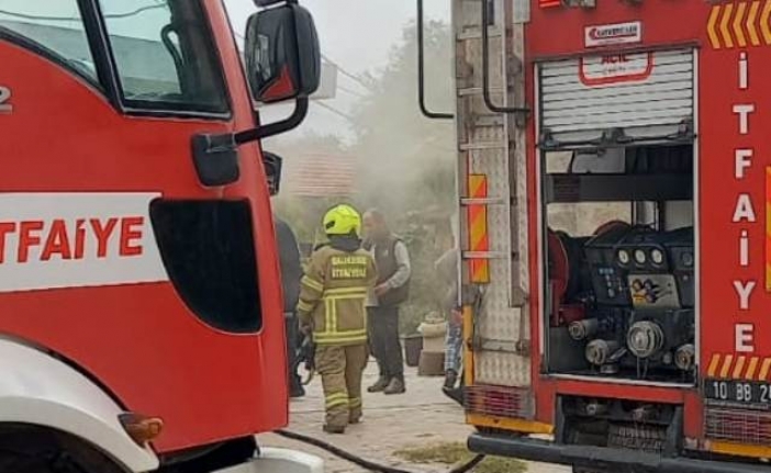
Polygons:
<instances>
[{"instance_id":1,"label":"larger cab door window nearest the black side mirror","mask_svg":"<svg viewBox=\"0 0 771 473\"><path fill-rule=\"evenodd\" d=\"M200 0L99 3L126 106L227 113L222 67Z\"/></svg>"}]
</instances>

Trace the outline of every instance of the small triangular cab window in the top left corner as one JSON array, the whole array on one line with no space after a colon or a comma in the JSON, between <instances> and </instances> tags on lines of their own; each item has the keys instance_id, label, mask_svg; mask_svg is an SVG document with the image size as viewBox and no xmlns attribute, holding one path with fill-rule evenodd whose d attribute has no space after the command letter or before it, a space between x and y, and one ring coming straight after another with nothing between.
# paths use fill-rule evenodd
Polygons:
<instances>
[{"instance_id":1,"label":"small triangular cab window in the top left corner","mask_svg":"<svg viewBox=\"0 0 771 473\"><path fill-rule=\"evenodd\" d=\"M3 0L0 33L97 83L97 69L77 0Z\"/></svg>"}]
</instances>

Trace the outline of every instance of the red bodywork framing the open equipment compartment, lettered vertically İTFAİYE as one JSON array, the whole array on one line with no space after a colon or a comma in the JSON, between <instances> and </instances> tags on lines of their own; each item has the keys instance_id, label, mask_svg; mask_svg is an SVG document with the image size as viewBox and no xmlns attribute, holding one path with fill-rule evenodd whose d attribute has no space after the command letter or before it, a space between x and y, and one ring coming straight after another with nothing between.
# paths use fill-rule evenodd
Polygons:
<instances>
[{"instance_id":1,"label":"red bodywork framing the open equipment compartment, lettered vertically \u0130TFA\u0130YE","mask_svg":"<svg viewBox=\"0 0 771 473\"><path fill-rule=\"evenodd\" d=\"M694 46L697 54L697 244L700 255L699 360L702 378L768 381L771 344L771 309L767 291L767 172L766 156L771 144L763 131L771 129L771 90L763 78L771 72L771 34L768 2L735 2L713 7L696 1L597 1L590 10L569 8L532 9L526 25L526 55L530 60L583 54L618 55L625 50ZM606 47L585 47L585 30L596 25L640 22L641 41ZM711 32L712 33L711 35ZM749 81L740 83L740 58L749 59ZM532 63L528 63L532 65ZM533 103L536 78L528 68L527 95ZM740 129L736 105L753 105L749 127ZM536 189L537 143L535 120L529 125L528 187ZM750 150L749 166L737 171L737 149ZM745 200L746 199L746 200ZM533 262L543 256L538 247L537 198L529 200L529 241ZM748 260L741 260L742 234ZM530 285L538 288L537 264L530 268ZM736 285L750 295L742 306ZM532 294L532 339L538 340L541 323L537 292ZM596 382L565 381L540 374L540 357L533 350L533 390L537 396L536 418L554 423L555 396L580 394L599 397L659 401L684 404L684 433L704 440L703 399L700 390L650 387ZM730 357L726 359L726 357ZM722 372L722 373L720 373ZM720 375L723 374L723 375Z\"/></svg>"}]
</instances>

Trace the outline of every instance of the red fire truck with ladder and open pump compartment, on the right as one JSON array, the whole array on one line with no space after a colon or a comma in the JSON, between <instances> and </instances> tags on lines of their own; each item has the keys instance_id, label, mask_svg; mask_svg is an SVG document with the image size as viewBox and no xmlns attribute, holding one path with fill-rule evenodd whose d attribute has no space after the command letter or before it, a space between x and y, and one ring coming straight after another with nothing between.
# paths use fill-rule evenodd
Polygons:
<instances>
[{"instance_id":1,"label":"red fire truck with ladder and open pump compartment, on the right","mask_svg":"<svg viewBox=\"0 0 771 473\"><path fill-rule=\"evenodd\" d=\"M470 448L767 471L771 2L452 5Z\"/></svg>"}]
</instances>

